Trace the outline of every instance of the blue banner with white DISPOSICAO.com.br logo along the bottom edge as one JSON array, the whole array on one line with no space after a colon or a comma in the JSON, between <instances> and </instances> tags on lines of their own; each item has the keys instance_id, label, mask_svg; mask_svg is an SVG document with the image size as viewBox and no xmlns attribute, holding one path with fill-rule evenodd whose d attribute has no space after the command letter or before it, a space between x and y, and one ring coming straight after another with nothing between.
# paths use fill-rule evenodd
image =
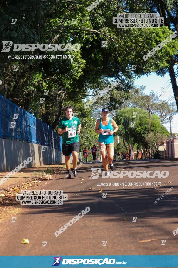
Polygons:
<instances>
[{"instance_id":1,"label":"blue banner with white DISPOSICAO.com.br logo along the bottom edge","mask_svg":"<svg viewBox=\"0 0 178 268\"><path fill-rule=\"evenodd\" d=\"M178 255L0 256L1 268L178 267Z\"/></svg>"}]
</instances>

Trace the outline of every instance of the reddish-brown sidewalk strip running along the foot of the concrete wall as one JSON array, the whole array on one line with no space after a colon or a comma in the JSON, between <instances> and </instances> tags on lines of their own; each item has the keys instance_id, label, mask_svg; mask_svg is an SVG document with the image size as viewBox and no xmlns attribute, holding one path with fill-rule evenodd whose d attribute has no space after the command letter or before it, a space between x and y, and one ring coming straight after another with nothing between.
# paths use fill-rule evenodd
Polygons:
<instances>
[{"instance_id":1,"label":"reddish-brown sidewalk strip running along the foot of the concrete wall","mask_svg":"<svg viewBox=\"0 0 178 268\"><path fill-rule=\"evenodd\" d=\"M20 185L25 182L30 182L32 178L50 179L54 175L59 175L65 172L65 164L54 164L42 167L37 166L35 168L24 168L15 173L13 176L10 176L6 182L0 185L0 193L2 193L2 191L7 191L11 187L14 187L16 185ZM8 173L10 173L10 171L0 172L0 180Z\"/></svg>"}]
</instances>

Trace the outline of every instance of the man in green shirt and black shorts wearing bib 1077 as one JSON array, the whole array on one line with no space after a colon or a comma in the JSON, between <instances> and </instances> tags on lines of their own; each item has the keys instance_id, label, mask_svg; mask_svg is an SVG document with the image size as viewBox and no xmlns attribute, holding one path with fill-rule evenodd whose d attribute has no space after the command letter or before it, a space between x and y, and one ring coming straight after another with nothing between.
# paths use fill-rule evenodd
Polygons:
<instances>
[{"instance_id":1,"label":"man in green shirt and black shorts wearing bib 1077","mask_svg":"<svg viewBox=\"0 0 178 268\"><path fill-rule=\"evenodd\" d=\"M64 117L58 125L58 134L62 136L62 153L65 155L65 164L67 168L67 178L71 179L70 169L70 154L73 157L73 171L74 177L78 177L76 166L79 152L79 133L81 129L81 122L78 117L73 115L73 107L67 106L65 108L66 117Z\"/></svg>"}]
</instances>

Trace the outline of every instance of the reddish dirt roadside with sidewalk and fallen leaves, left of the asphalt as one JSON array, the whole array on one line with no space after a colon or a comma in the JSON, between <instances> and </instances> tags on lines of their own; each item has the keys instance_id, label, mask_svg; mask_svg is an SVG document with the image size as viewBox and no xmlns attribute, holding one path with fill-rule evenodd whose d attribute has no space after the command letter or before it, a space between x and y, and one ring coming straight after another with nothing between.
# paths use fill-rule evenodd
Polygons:
<instances>
[{"instance_id":1,"label":"reddish dirt roadside with sidewalk and fallen leaves, left of the asphalt","mask_svg":"<svg viewBox=\"0 0 178 268\"><path fill-rule=\"evenodd\" d=\"M9 171L10 172L10 171ZM9 172L0 172L0 180ZM66 172L64 164L37 166L35 168L24 168L0 185L0 222L8 217L9 213L19 210L16 207L16 194L20 190L26 190L38 186L42 181L47 181L60 176Z\"/></svg>"}]
</instances>

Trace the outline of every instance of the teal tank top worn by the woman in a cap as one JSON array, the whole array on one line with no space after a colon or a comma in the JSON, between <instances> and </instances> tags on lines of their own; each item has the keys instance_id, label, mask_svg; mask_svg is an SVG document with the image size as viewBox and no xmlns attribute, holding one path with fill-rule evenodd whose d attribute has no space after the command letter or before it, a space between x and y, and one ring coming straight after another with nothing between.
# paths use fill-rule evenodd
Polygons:
<instances>
[{"instance_id":1,"label":"teal tank top worn by the woman in a cap","mask_svg":"<svg viewBox=\"0 0 178 268\"><path fill-rule=\"evenodd\" d=\"M109 123L107 126L103 126L101 123L101 119L99 119L99 129L103 129L102 134L99 134L99 142L104 144L109 144L114 142L114 135L109 135L108 130L113 130L113 126L111 125L111 118L109 119Z\"/></svg>"}]
</instances>

